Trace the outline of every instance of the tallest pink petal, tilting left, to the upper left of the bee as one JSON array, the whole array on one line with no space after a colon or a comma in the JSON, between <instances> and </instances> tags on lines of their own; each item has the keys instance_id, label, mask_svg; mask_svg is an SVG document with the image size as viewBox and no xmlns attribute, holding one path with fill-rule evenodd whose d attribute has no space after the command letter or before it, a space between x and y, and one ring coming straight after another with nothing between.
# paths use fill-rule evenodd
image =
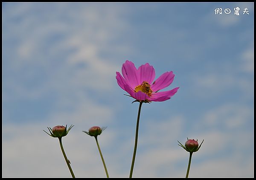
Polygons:
<instances>
[{"instance_id":1,"label":"tallest pink petal, tilting left, to the upper left of the bee","mask_svg":"<svg viewBox=\"0 0 256 180\"><path fill-rule=\"evenodd\" d=\"M133 89L140 84L137 79L137 71L137 68L131 61L126 60L122 65L122 75L124 76L126 83Z\"/></svg>"}]
</instances>

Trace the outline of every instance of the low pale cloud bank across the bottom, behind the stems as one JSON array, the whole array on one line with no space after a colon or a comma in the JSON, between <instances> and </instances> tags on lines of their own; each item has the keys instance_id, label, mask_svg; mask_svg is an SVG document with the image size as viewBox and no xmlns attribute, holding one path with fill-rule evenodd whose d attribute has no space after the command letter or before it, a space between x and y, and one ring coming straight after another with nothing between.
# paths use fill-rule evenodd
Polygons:
<instances>
[{"instance_id":1,"label":"low pale cloud bank across the bottom, behind the stems","mask_svg":"<svg viewBox=\"0 0 256 180\"><path fill-rule=\"evenodd\" d=\"M224 118L224 122L229 119L227 116ZM140 124L144 127L140 127L143 131L139 133L134 177L184 177L189 154L177 145L177 140L184 143L180 138L185 135L185 122L186 119L182 116L171 116L160 122L148 119L146 123ZM3 177L70 177L58 139L42 131L42 127L47 126L45 123L49 122L4 125ZM105 177L94 138L81 132L89 124L77 123L70 134L63 138L63 145L76 177ZM198 138L200 143L204 139L201 149L193 154L190 177L253 176L250 159L252 154L247 153L253 152L248 149L253 141L251 132L222 132L214 127L210 131L204 131L203 123L197 126L200 130L192 128L186 133ZM110 131L107 128L99 136L111 177L128 177L134 135L130 133L125 141L118 137L126 131L134 132L134 128L125 131L111 128ZM233 173L234 169L237 170L236 173Z\"/></svg>"}]
</instances>

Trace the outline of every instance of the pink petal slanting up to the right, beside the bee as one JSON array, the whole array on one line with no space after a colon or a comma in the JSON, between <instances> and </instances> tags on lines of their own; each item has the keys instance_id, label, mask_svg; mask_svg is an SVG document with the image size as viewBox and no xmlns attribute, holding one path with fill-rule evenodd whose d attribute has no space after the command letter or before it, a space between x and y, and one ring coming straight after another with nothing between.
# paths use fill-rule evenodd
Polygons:
<instances>
[{"instance_id":1,"label":"pink petal slanting up to the right, beside the bee","mask_svg":"<svg viewBox=\"0 0 256 180\"><path fill-rule=\"evenodd\" d=\"M157 78L156 81L153 82L153 84L151 84L151 89L153 92L156 92L169 86L172 83L174 76L175 75L172 73L172 71L163 73L159 78Z\"/></svg>"}]
</instances>

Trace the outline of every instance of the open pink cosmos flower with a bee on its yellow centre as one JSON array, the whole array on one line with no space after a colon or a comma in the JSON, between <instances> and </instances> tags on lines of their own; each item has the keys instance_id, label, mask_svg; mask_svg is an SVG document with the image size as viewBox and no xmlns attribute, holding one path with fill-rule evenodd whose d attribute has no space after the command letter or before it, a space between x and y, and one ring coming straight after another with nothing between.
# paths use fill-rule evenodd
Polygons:
<instances>
[{"instance_id":1,"label":"open pink cosmos flower with a bee on its yellow centre","mask_svg":"<svg viewBox=\"0 0 256 180\"><path fill-rule=\"evenodd\" d=\"M179 87L175 87L173 90L158 92L168 87L175 75L172 71L166 72L153 81L155 70L148 63L141 65L137 69L133 62L127 60L122 65L122 75L116 72L117 84L129 93L131 97L139 101L166 101L175 95L179 89Z\"/></svg>"}]
</instances>

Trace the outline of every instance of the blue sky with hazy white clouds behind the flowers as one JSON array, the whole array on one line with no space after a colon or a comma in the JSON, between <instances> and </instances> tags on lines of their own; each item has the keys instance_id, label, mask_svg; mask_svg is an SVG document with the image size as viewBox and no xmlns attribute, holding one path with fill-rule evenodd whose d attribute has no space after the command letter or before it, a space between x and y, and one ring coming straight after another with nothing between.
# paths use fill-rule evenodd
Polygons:
<instances>
[{"instance_id":1,"label":"blue sky with hazy white clouds behind the flowers","mask_svg":"<svg viewBox=\"0 0 256 180\"><path fill-rule=\"evenodd\" d=\"M233 9L239 6L240 15ZM214 10L222 8L222 15ZM225 14L224 9L231 13ZM244 14L248 8L249 15ZM134 177L253 177L253 3L3 3L3 177L128 177L138 103L116 71L173 71L170 100L143 104Z\"/></svg>"}]
</instances>

